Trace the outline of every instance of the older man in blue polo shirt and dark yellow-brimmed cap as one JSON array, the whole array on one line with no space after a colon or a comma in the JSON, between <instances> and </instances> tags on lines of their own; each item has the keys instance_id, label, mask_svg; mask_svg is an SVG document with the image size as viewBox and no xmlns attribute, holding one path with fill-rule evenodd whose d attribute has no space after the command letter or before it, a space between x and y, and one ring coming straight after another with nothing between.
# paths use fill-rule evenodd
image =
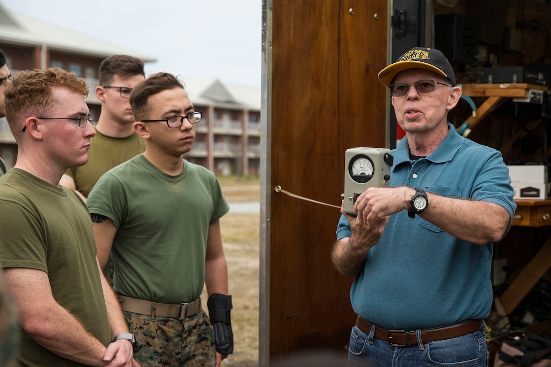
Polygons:
<instances>
[{"instance_id":1,"label":"older man in blue polo shirt and dark yellow-brimmed cap","mask_svg":"<svg viewBox=\"0 0 551 367\"><path fill-rule=\"evenodd\" d=\"M357 215L341 208L332 260L355 276L349 358L486 366L492 242L516 209L509 171L498 150L447 123L461 89L440 51L412 48L379 79L406 137L392 150L391 187L368 188Z\"/></svg>"}]
</instances>

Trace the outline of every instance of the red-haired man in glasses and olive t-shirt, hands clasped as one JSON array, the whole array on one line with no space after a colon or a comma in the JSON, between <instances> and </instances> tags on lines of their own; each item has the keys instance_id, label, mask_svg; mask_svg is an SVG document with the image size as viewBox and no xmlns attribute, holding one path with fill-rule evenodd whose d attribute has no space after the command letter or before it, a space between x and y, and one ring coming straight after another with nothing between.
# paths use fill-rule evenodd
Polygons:
<instances>
[{"instance_id":1,"label":"red-haired man in glasses and olive t-shirt, hands clasped","mask_svg":"<svg viewBox=\"0 0 551 367\"><path fill-rule=\"evenodd\" d=\"M87 208L60 186L67 168L88 160L87 94L84 79L61 68L20 72L6 88L18 155L0 177L0 258L19 311L20 365L138 366Z\"/></svg>"}]
</instances>

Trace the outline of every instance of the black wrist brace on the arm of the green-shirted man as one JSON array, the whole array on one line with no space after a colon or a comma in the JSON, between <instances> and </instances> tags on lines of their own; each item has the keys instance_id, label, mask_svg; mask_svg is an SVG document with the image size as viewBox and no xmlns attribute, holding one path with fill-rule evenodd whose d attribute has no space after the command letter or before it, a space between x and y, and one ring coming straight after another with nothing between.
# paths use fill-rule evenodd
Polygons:
<instances>
[{"instance_id":1,"label":"black wrist brace on the arm of the green-shirted man","mask_svg":"<svg viewBox=\"0 0 551 367\"><path fill-rule=\"evenodd\" d=\"M220 354L234 352L234 332L231 330L231 296L211 294L207 300L210 323L214 328L216 351Z\"/></svg>"}]
</instances>

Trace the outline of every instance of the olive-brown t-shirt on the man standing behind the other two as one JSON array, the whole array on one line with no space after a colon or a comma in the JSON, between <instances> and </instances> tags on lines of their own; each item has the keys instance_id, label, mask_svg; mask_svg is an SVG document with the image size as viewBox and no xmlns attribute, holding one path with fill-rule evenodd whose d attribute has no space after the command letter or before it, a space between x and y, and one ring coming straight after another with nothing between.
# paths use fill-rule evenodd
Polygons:
<instances>
[{"instance_id":1,"label":"olive-brown t-shirt on the man standing behind the other two","mask_svg":"<svg viewBox=\"0 0 551 367\"><path fill-rule=\"evenodd\" d=\"M88 163L65 172L74 180L77 191L88 197L102 174L128 159L145 152L145 140L135 132L126 138L113 138L100 133L90 139Z\"/></svg>"}]
</instances>

